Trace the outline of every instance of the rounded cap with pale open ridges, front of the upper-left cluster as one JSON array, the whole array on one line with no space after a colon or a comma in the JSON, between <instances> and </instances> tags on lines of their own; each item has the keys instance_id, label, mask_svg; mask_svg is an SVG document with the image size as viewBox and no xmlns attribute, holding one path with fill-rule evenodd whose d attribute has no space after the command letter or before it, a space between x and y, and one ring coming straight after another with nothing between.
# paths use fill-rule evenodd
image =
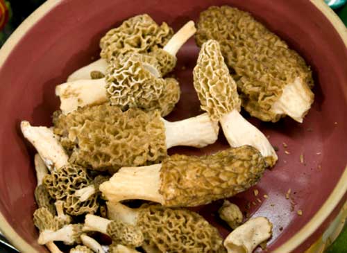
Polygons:
<instances>
[{"instance_id":1,"label":"rounded cap with pale open ridges, front of the upper-left cluster","mask_svg":"<svg viewBox=\"0 0 347 253\"><path fill-rule=\"evenodd\" d=\"M106 69L106 89L110 103L122 109L139 107L146 109L152 101L158 101L165 86L162 78L151 73L155 58L131 53L117 58ZM154 66L154 70L155 69Z\"/></svg>"}]
</instances>

